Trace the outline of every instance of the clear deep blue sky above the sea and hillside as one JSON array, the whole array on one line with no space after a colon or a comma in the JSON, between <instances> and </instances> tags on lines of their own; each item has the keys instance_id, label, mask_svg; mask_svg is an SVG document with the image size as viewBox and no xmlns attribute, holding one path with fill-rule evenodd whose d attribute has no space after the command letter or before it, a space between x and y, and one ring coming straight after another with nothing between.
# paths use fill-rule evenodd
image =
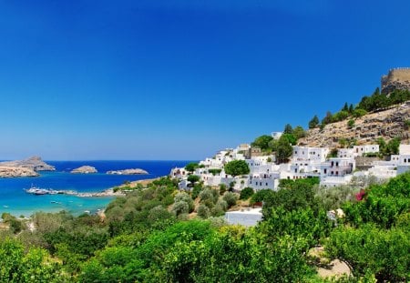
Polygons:
<instances>
[{"instance_id":1,"label":"clear deep blue sky above the sea and hillside","mask_svg":"<svg viewBox=\"0 0 410 283\"><path fill-rule=\"evenodd\" d=\"M410 66L410 1L0 0L0 159L202 159Z\"/></svg>"}]
</instances>

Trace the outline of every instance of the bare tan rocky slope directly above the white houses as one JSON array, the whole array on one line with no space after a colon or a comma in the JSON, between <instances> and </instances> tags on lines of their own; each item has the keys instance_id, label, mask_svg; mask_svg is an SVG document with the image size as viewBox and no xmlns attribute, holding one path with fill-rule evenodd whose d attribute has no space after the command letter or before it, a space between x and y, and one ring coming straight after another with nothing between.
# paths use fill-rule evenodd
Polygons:
<instances>
[{"instance_id":1,"label":"bare tan rocky slope directly above the white houses","mask_svg":"<svg viewBox=\"0 0 410 283\"><path fill-rule=\"evenodd\" d=\"M339 140L355 139L357 145L374 143L378 137L388 141L396 136L402 143L410 142L408 121L410 120L410 101L384 111L370 113L354 119L354 126L349 127L347 120L326 125L322 130L313 128L299 140L300 145L309 147L339 147Z\"/></svg>"}]
</instances>

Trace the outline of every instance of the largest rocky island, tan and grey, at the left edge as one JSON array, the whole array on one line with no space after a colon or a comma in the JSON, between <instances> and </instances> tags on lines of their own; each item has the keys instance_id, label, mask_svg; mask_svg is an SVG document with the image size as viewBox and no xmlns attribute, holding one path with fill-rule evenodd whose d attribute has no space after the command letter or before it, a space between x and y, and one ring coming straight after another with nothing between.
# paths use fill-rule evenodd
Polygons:
<instances>
[{"instance_id":1,"label":"largest rocky island, tan and grey, at the left edge","mask_svg":"<svg viewBox=\"0 0 410 283\"><path fill-rule=\"evenodd\" d=\"M41 157L25 160L0 162L0 177L37 177L37 171L54 171L54 166L46 164Z\"/></svg>"}]
</instances>

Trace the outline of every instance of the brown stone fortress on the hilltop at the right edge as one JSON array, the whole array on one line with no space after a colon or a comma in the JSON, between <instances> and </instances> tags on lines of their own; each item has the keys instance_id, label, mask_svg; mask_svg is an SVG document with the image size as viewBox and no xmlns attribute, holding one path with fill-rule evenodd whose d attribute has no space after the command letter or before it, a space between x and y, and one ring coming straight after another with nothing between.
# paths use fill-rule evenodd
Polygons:
<instances>
[{"instance_id":1,"label":"brown stone fortress on the hilltop at the right edge","mask_svg":"<svg viewBox=\"0 0 410 283\"><path fill-rule=\"evenodd\" d=\"M395 89L410 90L410 67L394 68L382 76L382 94L389 95Z\"/></svg>"}]
</instances>

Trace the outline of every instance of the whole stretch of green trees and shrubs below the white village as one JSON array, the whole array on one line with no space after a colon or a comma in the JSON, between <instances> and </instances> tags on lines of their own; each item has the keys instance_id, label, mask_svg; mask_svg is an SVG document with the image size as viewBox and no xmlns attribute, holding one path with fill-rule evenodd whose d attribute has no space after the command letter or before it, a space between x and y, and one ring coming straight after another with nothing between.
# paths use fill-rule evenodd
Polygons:
<instances>
[{"instance_id":1,"label":"whole stretch of green trees and shrubs below the white village","mask_svg":"<svg viewBox=\"0 0 410 283\"><path fill-rule=\"evenodd\" d=\"M410 279L410 173L360 193L316 178L244 189L242 199L264 203L251 228L210 217L237 194L196 186L194 199L162 178L118 197L105 218L36 213L35 229L21 222L16 234L0 233L0 282L324 282L309 253L317 245L352 268L340 282ZM345 216L328 217L338 207ZM188 220L190 211L198 216Z\"/></svg>"}]
</instances>

